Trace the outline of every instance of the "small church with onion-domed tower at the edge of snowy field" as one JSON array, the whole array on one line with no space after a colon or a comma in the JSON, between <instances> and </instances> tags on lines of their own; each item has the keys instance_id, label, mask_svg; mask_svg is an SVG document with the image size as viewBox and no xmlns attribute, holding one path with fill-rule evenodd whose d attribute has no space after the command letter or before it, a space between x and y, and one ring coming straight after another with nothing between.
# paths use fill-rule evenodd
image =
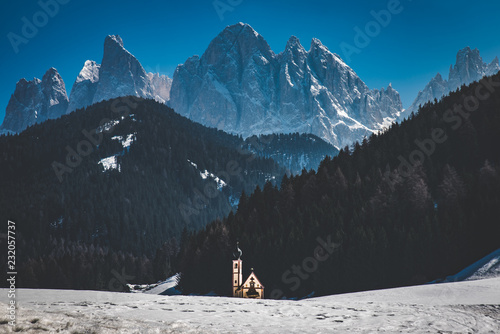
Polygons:
<instances>
[{"instance_id":1,"label":"small church with onion-domed tower at the edge of snowy field","mask_svg":"<svg viewBox=\"0 0 500 334\"><path fill-rule=\"evenodd\" d=\"M264 299L264 286L251 269L252 273L243 282L243 252L237 246L238 259L233 260L233 297Z\"/></svg>"}]
</instances>

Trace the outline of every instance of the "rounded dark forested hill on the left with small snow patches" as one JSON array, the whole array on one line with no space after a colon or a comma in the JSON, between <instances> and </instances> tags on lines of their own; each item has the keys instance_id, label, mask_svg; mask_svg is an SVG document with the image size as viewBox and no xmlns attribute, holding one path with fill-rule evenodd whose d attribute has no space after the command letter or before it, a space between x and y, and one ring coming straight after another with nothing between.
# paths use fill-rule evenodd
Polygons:
<instances>
[{"instance_id":1,"label":"rounded dark forested hill on the left with small snow patches","mask_svg":"<svg viewBox=\"0 0 500 334\"><path fill-rule=\"evenodd\" d=\"M113 290L166 278L183 230L281 181L284 168L242 145L133 97L0 137L0 220L16 224L18 286Z\"/></svg>"}]
</instances>

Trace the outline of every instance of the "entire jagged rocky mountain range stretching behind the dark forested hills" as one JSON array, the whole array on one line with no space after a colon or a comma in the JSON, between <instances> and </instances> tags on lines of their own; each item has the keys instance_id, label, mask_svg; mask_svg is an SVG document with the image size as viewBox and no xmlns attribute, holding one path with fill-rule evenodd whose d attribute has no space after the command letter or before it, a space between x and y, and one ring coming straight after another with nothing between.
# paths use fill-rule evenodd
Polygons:
<instances>
[{"instance_id":1,"label":"entire jagged rocky mountain range stretching behind the dark forested hills","mask_svg":"<svg viewBox=\"0 0 500 334\"><path fill-rule=\"evenodd\" d=\"M26 127L119 96L166 103L202 125L251 137L308 133L337 148L387 128L427 101L496 73L498 58L483 63L479 51L460 50L448 81L440 74L404 110L391 84L370 89L318 39L306 50L290 37L276 54L250 25L226 27L200 56L180 64L169 78L147 73L117 35L107 36L101 64L88 60L69 99L61 76L49 69L42 80L21 79L0 133Z\"/></svg>"}]
</instances>

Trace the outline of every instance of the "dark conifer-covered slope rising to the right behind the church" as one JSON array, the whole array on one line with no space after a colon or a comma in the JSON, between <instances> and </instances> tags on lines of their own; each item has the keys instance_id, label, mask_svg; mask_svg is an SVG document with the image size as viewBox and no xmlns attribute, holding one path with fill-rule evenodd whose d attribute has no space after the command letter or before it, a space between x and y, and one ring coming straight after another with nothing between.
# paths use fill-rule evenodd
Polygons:
<instances>
[{"instance_id":1,"label":"dark conifer-covered slope rising to the right behind the church","mask_svg":"<svg viewBox=\"0 0 500 334\"><path fill-rule=\"evenodd\" d=\"M237 240L268 298L425 283L499 248L499 86L462 86L317 172L242 196L182 245L184 293L229 294Z\"/></svg>"}]
</instances>

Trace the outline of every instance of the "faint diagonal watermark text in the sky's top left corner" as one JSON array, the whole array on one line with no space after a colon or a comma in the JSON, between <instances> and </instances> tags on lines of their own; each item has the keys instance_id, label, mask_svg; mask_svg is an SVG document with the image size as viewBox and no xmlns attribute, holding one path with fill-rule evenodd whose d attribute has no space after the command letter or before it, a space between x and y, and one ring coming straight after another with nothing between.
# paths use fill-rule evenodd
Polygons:
<instances>
[{"instance_id":1,"label":"faint diagonal watermark text in the sky's top left corner","mask_svg":"<svg viewBox=\"0 0 500 334\"><path fill-rule=\"evenodd\" d=\"M17 54L19 53L19 46L21 44L28 44L28 42L38 35L39 29L45 27L51 18L59 14L61 5L65 5L71 0L40 0L37 2L40 10L35 12L31 19L26 16L21 18L23 23L21 27L21 34L9 32L7 39L12 46L12 49Z\"/></svg>"}]
</instances>

